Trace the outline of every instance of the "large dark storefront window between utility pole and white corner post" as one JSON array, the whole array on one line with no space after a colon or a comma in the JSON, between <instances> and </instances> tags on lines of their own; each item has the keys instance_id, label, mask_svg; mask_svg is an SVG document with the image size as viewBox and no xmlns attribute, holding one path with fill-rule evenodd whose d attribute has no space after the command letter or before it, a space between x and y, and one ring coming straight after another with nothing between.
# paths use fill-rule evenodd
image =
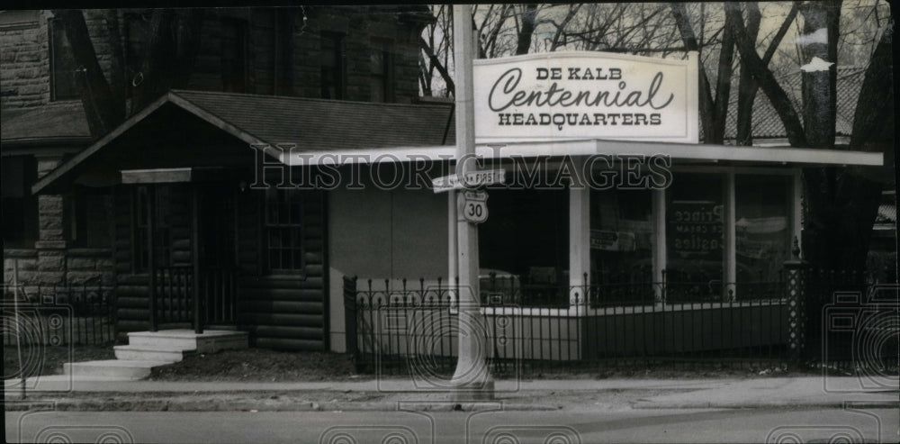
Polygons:
<instances>
[{"instance_id":1,"label":"large dark storefront window between utility pole and white corner post","mask_svg":"<svg viewBox=\"0 0 900 444\"><path fill-rule=\"evenodd\" d=\"M482 301L569 306L569 191L492 189L479 225Z\"/></svg>"}]
</instances>

